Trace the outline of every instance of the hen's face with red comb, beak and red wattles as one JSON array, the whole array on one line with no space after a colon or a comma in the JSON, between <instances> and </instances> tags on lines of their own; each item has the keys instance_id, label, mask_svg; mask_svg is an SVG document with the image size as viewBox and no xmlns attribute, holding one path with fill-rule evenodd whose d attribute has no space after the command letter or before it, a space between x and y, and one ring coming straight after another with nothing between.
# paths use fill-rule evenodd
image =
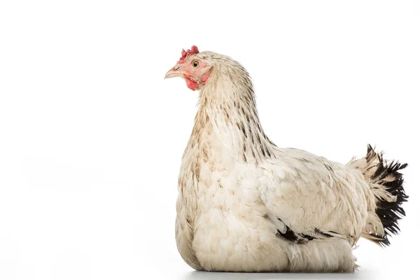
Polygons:
<instances>
[{"instance_id":1,"label":"hen's face with red comb, beak and red wattles","mask_svg":"<svg viewBox=\"0 0 420 280\"><path fill-rule=\"evenodd\" d=\"M193 45L191 50L182 50L182 56L165 78L182 77L186 80L190 90L197 90L207 83L210 77L209 63L204 57L200 57L198 48Z\"/></svg>"}]
</instances>

